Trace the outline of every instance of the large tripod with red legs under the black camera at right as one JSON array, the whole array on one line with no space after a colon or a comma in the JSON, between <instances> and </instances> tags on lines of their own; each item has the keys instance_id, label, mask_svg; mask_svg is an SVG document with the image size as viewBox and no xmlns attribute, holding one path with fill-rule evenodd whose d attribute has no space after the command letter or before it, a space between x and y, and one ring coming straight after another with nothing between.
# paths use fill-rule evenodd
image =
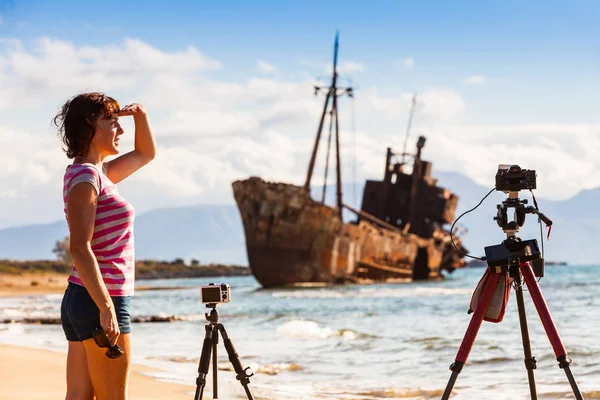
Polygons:
<instances>
[{"instance_id":1,"label":"large tripod with red legs under the black camera at right","mask_svg":"<svg viewBox=\"0 0 600 400\"><path fill-rule=\"evenodd\" d=\"M529 391L532 400L537 400L537 392L535 387L535 377L533 370L536 369L536 359L531 355L531 346L529 343L529 331L527 328L527 316L525 313L525 301L523 297L523 281L529 289L529 294L538 312L538 315L546 331L546 336L550 340L550 344L556 355L558 366L565 371L567 379L575 398L577 400L583 400L581 392L577 387L575 378L571 373L571 358L567 355L567 351L560 339L558 330L554 325L548 305L542 295L542 291L538 282L536 281L537 276L543 276L543 259L539 256L539 249L537 248L537 242L535 240L521 241L516 236L519 227L525 222L526 213L536 213L543 221L548 221L547 225L551 225L550 221L543 214L538 213L532 207L524 207L525 200L519 200L516 197L516 193L511 193L511 198L503 202L503 206L498 206L498 217L495 219L498 221L503 231L507 234L507 239L502 242L501 245L488 246L485 248L486 261L488 263L489 276L483 283L483 289L479 296L479 301L475 307L471 322L467 328L467 332L460 345L456 359L452 365L450 365L450 371L452 374L446 390L442 396L442 400L448 400L454 387L454 383L458 378L458 374L462 371L467 357L471 352L477 332L481 327L481 323L486 316L488 306L490 305L494 292L497 286L501 283L502 279L510 277L509 282L513 282L513 286L517 297L517 307L519 310L519 323L521 326L521 339L523 341L523 352L525 355L525 368L527 369L527 379L529 381ZM506 219L506 208L515 207L516 221L508 222ZM541 214L541 215L540 215ZM543 218L542 218L543 217ZM529 263L532 261L532 264ZM534 273L534 270L537 274ZM486 274L488 271L486 271ZM483 280L482 280L483 282ZM501 318L500 318L501 319ZM499 322L499 321L498 321Z\"/></svg>"}]
</instances>

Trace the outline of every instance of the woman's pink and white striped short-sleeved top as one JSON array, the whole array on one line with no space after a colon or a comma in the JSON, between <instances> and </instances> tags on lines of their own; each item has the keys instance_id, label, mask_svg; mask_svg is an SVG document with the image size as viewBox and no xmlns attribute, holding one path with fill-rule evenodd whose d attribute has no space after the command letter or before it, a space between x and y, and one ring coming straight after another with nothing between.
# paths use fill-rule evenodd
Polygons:
<instances>
[{"instance_id":1,"label":"woman's pink and white striped short-sleeved top","mask_svg":"<svg viewBox=\"0 0 600 400\"><path fill-rule=\"evenodd\" d=\"M63 200L65 216L69 191L78 183L91 184L98 193L92 251L110 296L132 296L134 293L135 253L133 246L133 206L119 194L117 187L93 164L71 164L64 176ZM69 222L67 217L67 223ZM69 282L84 286L77 266Z\"/></svg>"}]
</instances>

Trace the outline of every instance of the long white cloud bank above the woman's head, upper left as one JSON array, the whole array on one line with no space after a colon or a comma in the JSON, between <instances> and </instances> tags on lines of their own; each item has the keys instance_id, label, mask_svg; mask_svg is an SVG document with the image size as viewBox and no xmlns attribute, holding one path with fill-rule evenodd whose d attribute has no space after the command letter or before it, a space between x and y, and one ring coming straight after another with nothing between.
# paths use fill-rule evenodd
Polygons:
<instances>
[{"instance_id":1,"label":"long white cloud bank above the woman's head, upper left","mask_svg":"<svg viewBox=\"0 0 600 400\"><path fill-rule=\"evenodd\" d=\"M83 90L136 89L160 76L220 67L194 47L165 53L137 39L93 48L44 37L32 48L13 40L2 50L0 109L22 108Z\"/></svg>"}]
</instances>

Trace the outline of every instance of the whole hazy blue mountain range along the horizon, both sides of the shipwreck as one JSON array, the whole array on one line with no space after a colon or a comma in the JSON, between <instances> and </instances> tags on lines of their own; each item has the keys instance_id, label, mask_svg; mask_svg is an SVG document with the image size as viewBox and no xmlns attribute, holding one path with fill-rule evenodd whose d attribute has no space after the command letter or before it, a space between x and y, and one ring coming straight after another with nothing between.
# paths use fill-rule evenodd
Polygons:
<instances>
[{"instance_id":1,"label":"whole hazy blue mountain range along the horizon, both sides of the shipwreck","mask_svg":"<svg viewBox=\"0 0 600 400\"><path fill-rule=\"evenodd\" d=\"M456 213L473 208L493 188L481 186L454 172L434 173L440 186L459 196ZM321 198L322 187L313 187L313 198ZM363 184L343 186L345 202L360 208ZM335 186L327 188L326 199L333 204ZM530 194L520 192L523 198ZM457 223L466 229L464 243L474 256L482 256L484 247L499 244L505 235L496 225L496 205L506 195L494 191L475 211ZM600 264L600 246L596 231L600 227L600 188L584 190L564 201L537 199L540 210L554 222L550 240L544 233L545 258L569 264ZM509 209L511 211L512 209ZM509 214L510 216L511 214ZM346 218L348 217L348 218ZM345 214L345 219L352 218ZM137 259L198 259L201 263L247 264L244 232L235 204L199 204L195 206L155 209L136 217L135 243ZM0 229L0 258L15 260L52 259L55 241L68 235L64 220L49 224ZM540 242L540 227L535 215L528 215L519 236Z\"/></svg>"}]
</instances>

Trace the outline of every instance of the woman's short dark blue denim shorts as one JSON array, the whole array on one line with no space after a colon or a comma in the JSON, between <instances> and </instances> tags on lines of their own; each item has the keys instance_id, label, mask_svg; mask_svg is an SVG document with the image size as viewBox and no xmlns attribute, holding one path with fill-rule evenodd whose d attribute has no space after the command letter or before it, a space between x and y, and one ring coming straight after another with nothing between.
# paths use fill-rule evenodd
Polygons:
<instances>
[{"instance_id":1,"label":"woman's short dark blue denim shorts","mask_svg":"<svg viewBox=\"0 0 600 400\"><path fill-rule=\"evenodd\" d=\"M131 296L111 297L121 333L131 333ZM63 331L70 342L91 339L100 326L100 310L85 287L69 282L60 306Z\"/></svg>"}]
</instances>

